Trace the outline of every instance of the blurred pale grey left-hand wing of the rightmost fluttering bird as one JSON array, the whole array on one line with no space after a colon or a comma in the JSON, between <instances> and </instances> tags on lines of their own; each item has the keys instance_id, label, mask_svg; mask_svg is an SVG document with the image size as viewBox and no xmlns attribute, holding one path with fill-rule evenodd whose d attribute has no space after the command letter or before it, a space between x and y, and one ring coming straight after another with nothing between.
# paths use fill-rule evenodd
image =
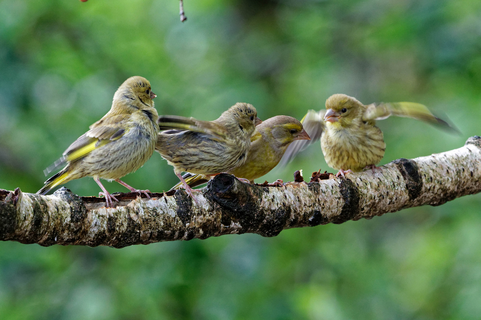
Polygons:
<instances>
[{"instance_id":1,"label":"blurred pale grey left-hand wing of the rightmost fluttering bird","mask_svg":"<svg viewBox=\"0 0 481 320\"><path fill-rule=\"evenodd\" d=\"M287 147L284 156L280 160L281 166L285 166L286 164L291 162L299 152L303 151L313 142L319 141L326 127L326 122L324 121L324 114L326 114L326 110L307 111L306 115L301 120L301 123L304 127L305 132L309 135L311 140L295 140L294 142L292 142L289 147Z\"/></svg>"}]
</instances>

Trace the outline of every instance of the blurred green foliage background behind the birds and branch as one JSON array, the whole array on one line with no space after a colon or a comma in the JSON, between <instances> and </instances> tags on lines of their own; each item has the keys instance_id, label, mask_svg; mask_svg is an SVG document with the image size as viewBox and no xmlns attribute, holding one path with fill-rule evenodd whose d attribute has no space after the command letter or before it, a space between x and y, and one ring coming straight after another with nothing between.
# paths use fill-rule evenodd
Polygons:
<instances>
[{"instance_id":1,"label":"blurred green foliage background behind the birds and branch","mask_svg":"<svg viewBox=\"0 0 481 320\"><path fill-rule=\"evenodd\" d=\"M0 0L1 188L36 192L132 75L151 81L159 114L214 120L244 101L261 119L301 119L345 93L421 102L462 132L379 122L382 164L481 134L479 0L185 1L182 24L177 0ZM265 178L319 168L316 145ZM155 153L125 181L178 180ZM0 243L0 319L480 319L480 208L476 195L274 238L124 249Z\"/></svg>"}]
</instances>

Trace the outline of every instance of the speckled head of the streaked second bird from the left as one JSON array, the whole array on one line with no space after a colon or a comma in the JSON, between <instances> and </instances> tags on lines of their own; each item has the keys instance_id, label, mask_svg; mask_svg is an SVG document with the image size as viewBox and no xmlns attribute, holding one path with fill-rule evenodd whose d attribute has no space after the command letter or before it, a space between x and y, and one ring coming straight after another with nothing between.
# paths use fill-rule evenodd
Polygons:
<instances>
[{"instance_id":1,"label":"speckled head of the streaked second bird from the left","mask_svg":"<svg viewBox=\"0 0 481 320\"><path fill-rule=\"evenodd\" d=\"M237 102L222 113L218 122L250 137L254 134L255 126L262 123L262 120L257 118L257 111L252 104Z\"/></svg>"}]
</instances>

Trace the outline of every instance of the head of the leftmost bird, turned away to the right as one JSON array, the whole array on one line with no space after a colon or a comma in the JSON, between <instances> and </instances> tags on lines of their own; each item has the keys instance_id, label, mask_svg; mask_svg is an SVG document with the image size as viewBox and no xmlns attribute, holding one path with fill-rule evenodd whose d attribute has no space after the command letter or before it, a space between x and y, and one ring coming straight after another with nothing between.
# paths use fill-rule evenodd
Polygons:
<instances>
[{"instance_id":1,"label":"head of the leftmost bird, turned away to the right","mask_svg":"<svg viewBox=\"0 0 481 320\"><path fill-rule=\"evenodd\" d=\"M144 110L153 108L152 99L157 97L153 92L149 80L141 76L128 78L119 86L114 95L114 104L120 102L134 109Z\"/></svg>"}]
</instances>

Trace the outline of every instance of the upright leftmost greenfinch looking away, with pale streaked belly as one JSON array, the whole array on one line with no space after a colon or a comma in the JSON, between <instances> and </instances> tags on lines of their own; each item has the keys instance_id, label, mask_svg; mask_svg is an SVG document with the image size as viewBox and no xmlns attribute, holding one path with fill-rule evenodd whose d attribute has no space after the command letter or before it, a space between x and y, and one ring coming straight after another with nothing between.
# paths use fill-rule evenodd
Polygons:
<instances>
[{"instance_id":1,"label":"upright leftmost greenfinch looking away, with pale streaked belly","mask_svg":"<svg viewBox=\"0 0 481 320\"><path fill-rule=\"evenodd\" d=\"M63 152L62 158L46 170L46 174L67 165L45 182L37 194L45 195L57 185L85 176L93 177L101 187L107 207L118 201L101 184L100 179L115 180L132 192L144 193L120 178L135 172L149 160L155 149L159 126L149 81L140 76L128 78L115 92L112 108L90 130Z\"/></svg>"}]
</instances>

